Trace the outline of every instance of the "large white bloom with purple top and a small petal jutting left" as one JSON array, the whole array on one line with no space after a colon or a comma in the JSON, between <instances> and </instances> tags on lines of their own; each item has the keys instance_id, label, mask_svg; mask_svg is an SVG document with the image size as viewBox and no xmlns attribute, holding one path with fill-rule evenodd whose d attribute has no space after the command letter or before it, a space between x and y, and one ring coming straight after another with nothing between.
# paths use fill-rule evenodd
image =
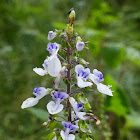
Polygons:
<instances>
[{"instance_id":1,"label":"large white bloom with purple top and a small petal jutting left","mask_svg":"<svg viewBox=\"0 0 140 140\"><path fill-rule=\"evenodd\" d=\"M59 44L57 43L48 43L47 45L47 51L51 54L51 56L47 57L44 60L44 63L42 68L34 68L33 71L35 71L38 75L44 76L46 74L51 75L52 77L57 77L60 70L61 70L61 62L57 57L57 53L59 50Z\"/></svg>"}]
</instances>

